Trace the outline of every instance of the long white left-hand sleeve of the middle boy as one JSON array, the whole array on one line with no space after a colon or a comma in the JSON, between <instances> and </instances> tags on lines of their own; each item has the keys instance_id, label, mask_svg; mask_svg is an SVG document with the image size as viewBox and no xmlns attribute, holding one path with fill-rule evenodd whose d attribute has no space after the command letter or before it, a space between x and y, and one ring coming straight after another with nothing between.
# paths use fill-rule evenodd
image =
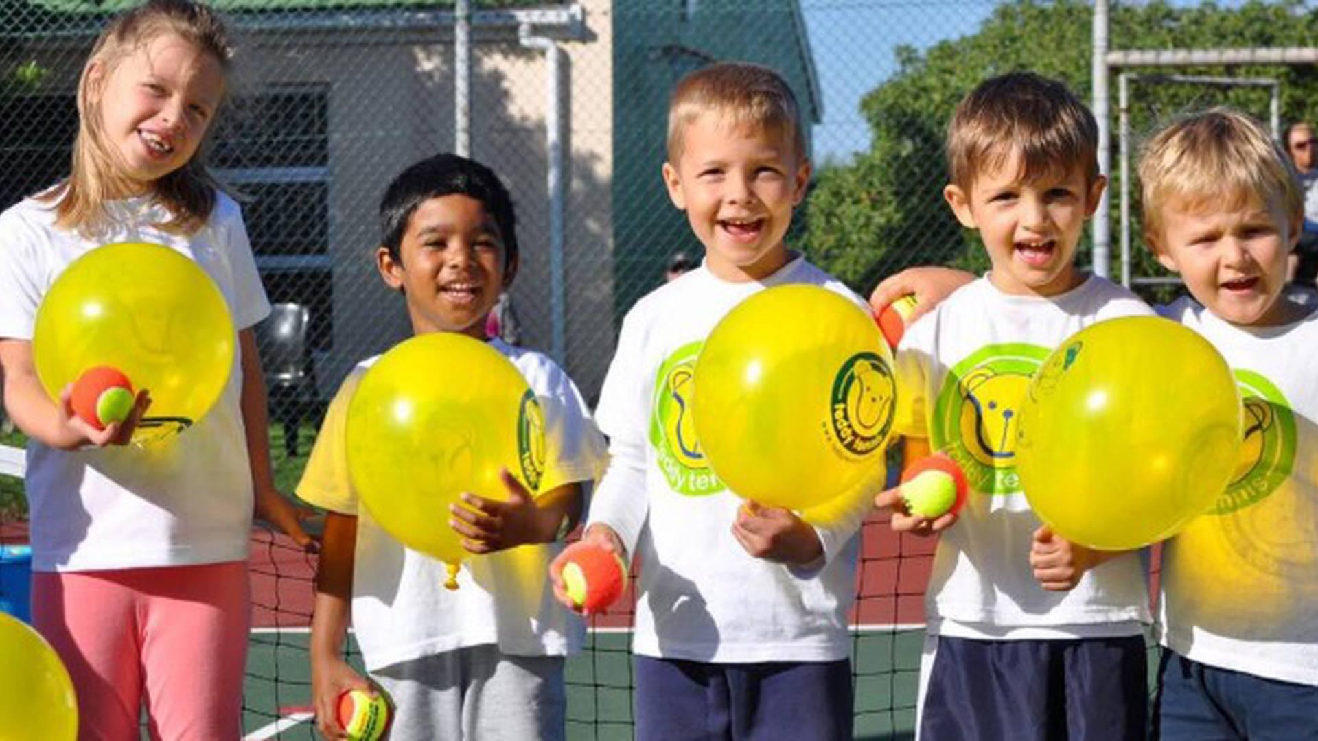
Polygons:
<instances>
[{"instance_id":1,"label":"long white left-hand sleeve of the middle boy","mask_svg":"<svg viewBox=\"0 0 1318 741\"><path fill-rule=\"evenodd\" d=\"M609 467L590 501L587 526L608 525L618 534L627 555L635 554L637 541L650 513L646 493L646 425L650 403L642 363L645 338L631 314L622 322L618 349L609 364L600 392L596 421L609 438Z\"/></svg>"}]
</instances>

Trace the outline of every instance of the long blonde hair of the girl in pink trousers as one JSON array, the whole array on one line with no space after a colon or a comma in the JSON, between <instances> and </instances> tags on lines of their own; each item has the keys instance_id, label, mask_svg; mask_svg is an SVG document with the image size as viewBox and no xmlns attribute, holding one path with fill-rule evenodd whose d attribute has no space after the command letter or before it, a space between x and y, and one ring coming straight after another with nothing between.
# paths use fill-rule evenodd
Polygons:
<instances>
[{"instance_id":1,"label":"long blonde hair of the girl in pink trousers","mask_svg":"<svg viewBox=\"0 0 1318 741\"><path fill-rule=\"evenodd\" d=\"M104 202L121 191L124 185L117 154L104 141L100 121L104 102L101 92L92 90L92 67L100 65L104 84L105 76L125 57L165 34L178 36L210 54L228 73L232 57L228 33L219 16L206 5L190 0L150 0L116 16L92 46L78 80L78 138L74 141L69 178L40 196L47 202L58 200L58 227L94 235L107 219ZM211 120L214 128L214 115ZM207 129L207 138L211 128ZM206 169L206 144L203 140L186 165L153 183L156 200L170 212L170 219L157 227L192 233L211 216L220 185Z\"/></svg>"}]
</instances>

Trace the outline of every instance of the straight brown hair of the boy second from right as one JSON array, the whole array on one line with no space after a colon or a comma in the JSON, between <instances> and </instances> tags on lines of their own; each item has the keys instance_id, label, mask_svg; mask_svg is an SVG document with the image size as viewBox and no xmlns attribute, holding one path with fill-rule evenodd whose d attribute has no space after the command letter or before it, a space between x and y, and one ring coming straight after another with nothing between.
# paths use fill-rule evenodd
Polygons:
<instances>
[{"instance_id":1,"label":"straight brown hair of the boy second from right","mask_svg":"<svg viewBox=\"0 0 1318 741\"><path fill-rule=\"evenodd\" d=\"M1061 82L1011 73L979 83L948 124L948 175L969 190L975 177L1002 167L1019 152L1025 179L1085 169L1098 179L1098 121Z\"/></svg>"}]
</instances>

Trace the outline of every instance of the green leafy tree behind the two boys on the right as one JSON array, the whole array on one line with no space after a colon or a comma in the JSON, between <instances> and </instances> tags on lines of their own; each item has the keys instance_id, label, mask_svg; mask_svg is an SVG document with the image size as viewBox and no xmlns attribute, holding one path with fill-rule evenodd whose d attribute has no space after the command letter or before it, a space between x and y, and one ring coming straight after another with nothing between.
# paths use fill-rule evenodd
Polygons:
<instances>
[{"instance_id":1,"label":"green leafy tree behind the two boys on the right","mask_svg":"<svg viewBox=\"0 0 1318 741\"><path fill-rule=\"evenodd\" d=\"M919 53L896 50L898 71L861 102L871 129L870 150L850 163L822 167L805 206L811 260L867 293L874 283L908 265L950 264L982 270L987 265L973 232L962 229L944 203L946 166L944 131L957 102L981 80L1031 70L1065 80L1090 99L1091 8L1079 0L1015 0L1000 5L973 36L945 41ZM1223 49L1311 46L1318 41L1318 11L1298 0L1248 3L1239 8L1172 7L1166 3L1114 5L1114 49ZM1137 74L1231 75L1276 78L1282 86L1282 120L1313 120L1318 112L1318 69L1197 67L1141 69ZM1265 116L1267 92L1234 88L1140 84L1132 96L1136 140L1169 119L1206 104L1230 104ZM1112 79L1112 169L1116 170L1116 79ZM1133 163L1133 161L1132 161ZM1115 181L1115 178L1114 178ZM1112 182L1110 187L1119 187ZM1137 189L1132 189L1137 214ZM1112 251L1118 248L1116 193L1112 191ZM1145 254L1139 224L1132 227L1133 274L1162 274ZM1082 254L1081 262L1089 257ZM1114 274L1119 270L1114 268Z\"/></svg>"}]
</instances>

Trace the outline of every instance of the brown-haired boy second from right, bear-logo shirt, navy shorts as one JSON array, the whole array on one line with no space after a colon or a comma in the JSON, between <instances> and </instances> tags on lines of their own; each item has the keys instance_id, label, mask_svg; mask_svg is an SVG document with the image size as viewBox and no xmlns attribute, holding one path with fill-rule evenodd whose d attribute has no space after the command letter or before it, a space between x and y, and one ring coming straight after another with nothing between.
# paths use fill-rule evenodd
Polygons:
<instances>
[{"instance_id":1,"label":"brown-haired boy second from right, bear-logo shirt, navy shorts","mask_svg":"<svg viewBox=\"0 0 1318 741\"><path fill-rule=\"evenodd\" d=\"M957 219L992 268L915 322L898 349L895 422L907 463L946 452L971 496L960 517L892 527L941 531L927 591L920 733L925 738L1141 738L1147 717L1143 564L1041 526L1015 468L1016 411L1031 376L1069 335L1148 314L1074 265L1104 179L1093 113L1056 80L983 82L948 129Z\"/></svg>"}]
</instances>

